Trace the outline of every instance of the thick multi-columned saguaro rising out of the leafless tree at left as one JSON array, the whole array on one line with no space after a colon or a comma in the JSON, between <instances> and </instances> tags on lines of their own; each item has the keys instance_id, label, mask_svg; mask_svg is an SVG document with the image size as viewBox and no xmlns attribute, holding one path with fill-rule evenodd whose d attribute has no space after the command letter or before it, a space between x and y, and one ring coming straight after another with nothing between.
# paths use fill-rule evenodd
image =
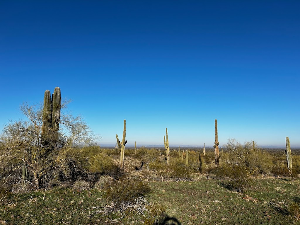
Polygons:
<instances>
[{"instance_id":1,"label":"thick multi-columned saguaro rising out of the leafless tree at left","mask_svg":"<svg viewBox=\"0 0 300 225\"><path fill-rule=\"evenodd\" d=\"M58 129L60 121L61 110L61 93L60 88L56 87L54 93L51 94L49 90L45 91L44 107L42 118L42 145L49 146L58 141Z\"/></svg>"}]
</instances>

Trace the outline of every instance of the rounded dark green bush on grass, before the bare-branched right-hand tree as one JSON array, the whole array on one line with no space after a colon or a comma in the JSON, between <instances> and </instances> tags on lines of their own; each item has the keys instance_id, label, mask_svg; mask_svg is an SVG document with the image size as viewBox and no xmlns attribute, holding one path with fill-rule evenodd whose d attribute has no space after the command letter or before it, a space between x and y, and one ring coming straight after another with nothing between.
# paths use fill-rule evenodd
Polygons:
<instances>
[{"instance_id":1,"label":"rounded dark green bush on grass, before the bare-branched right-hand tree","mask_svg":"<svg viewBox=\"0 0 300 225\"><path fill-rule=\"evenodd\" d=\"M243 165L224 165L216 168L213 173L234 190L243 191L251 183L251 177Z\"/></svg>"}]
</instances>

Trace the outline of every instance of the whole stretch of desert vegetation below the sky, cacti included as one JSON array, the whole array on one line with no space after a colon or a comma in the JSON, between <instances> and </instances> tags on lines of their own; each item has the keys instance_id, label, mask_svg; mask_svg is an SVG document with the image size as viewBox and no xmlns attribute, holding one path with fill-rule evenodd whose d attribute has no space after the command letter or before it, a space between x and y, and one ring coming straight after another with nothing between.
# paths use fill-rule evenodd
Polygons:
<instances>
[{"instance_id":1,"label":"whole stretch of desert vegetation below the sky, cacti included","mask_svg":"<svg viewBox=\"0 0 300 225\"><path fill-rule=\"evenodd\" d=\"M4 126L0 143L1 224L300 223L300 150L264 150L234 139L214 148L125 149L95 143L57 87L42 106ZM224 148L224 151L223 151Z\"/></svg>"}]
</instances>

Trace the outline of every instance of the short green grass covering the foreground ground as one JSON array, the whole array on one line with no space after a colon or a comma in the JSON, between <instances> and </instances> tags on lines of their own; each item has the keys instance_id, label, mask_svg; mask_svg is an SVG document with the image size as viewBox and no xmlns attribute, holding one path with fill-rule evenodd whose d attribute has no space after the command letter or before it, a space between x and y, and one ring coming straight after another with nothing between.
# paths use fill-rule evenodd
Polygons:
<instances>
[{"instance_id":1,"label":"short green grass covering the foreground ground","mask_svg":"<svg viewBox=\"0 0 300 225\"><path fill-rule=\"evenodd\" d=\"M181 224L300 224L288 210L292 202L300 204L299 180L256 178L243 193L216 179L149 184L146 200ZM105 194L96 189L14 194L0 205L0 224L105 224L105 216L90 217L84 210L105 203ZM148 216L127 211L121 224L143 224Z\"/></svg>"}]
</instances>

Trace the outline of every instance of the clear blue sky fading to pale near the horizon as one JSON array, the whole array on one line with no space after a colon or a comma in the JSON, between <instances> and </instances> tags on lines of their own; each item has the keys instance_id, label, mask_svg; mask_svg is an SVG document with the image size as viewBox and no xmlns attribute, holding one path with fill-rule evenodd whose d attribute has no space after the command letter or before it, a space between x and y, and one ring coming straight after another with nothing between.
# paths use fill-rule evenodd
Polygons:
<instances>
[{"instance_id":1,"label":"clear blue sky fading to pale near the horizon","mask_svg":"<svg viewBox=\"0 0 300 225\"><path fill-rule=\"evenodd\" d=\"M128 146L300 146L300 1L1 1L0 127L61 88Z\"/></svg>"}]
</instances>

